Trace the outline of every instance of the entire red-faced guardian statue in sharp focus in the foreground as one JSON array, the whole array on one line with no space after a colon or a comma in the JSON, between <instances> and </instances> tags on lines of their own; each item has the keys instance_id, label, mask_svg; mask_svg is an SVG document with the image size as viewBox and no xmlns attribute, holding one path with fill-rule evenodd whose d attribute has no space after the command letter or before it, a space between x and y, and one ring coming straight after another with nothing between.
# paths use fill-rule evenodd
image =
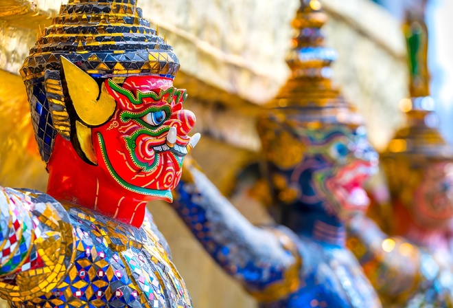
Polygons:
<instances>
[{"instance_id":1,"label":"entire red-faced guardian statue in sharp focus in the foreground","mask_svg":"<svg viewBox=\"0 0 453 308\"><path fill-rule=\"evenodd\" d=\"M69 0L25 60L47 194L0 188L12 307L191 307L146 202L172 200L199 135L178 58L135 0Z\"/></svg>"}]
</instances>

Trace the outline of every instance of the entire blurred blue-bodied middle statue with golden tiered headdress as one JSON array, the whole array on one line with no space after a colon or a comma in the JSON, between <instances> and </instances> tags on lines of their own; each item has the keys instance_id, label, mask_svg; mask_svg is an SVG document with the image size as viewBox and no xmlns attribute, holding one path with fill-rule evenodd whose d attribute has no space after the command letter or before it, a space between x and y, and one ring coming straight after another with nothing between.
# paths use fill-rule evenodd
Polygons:
<instances>
[{"instance_id":1,"label":"entire blurred blue-bodied middle statue with golden tiered headdress","mask_svg":"<svg viewBox=\"0 0 453 308\"><path fill-rule=\"evenodd\" d=\"M333 87L326 16L301 0L288 57L292 77L259 120L277 226L246 221L195 166L174 208L222 269L261 307L381 307L345 247L345 221L367 209L362 189L377 164L360 117ZM186 161L187 163L188 161Z\"/></svg>"}]
</instances>

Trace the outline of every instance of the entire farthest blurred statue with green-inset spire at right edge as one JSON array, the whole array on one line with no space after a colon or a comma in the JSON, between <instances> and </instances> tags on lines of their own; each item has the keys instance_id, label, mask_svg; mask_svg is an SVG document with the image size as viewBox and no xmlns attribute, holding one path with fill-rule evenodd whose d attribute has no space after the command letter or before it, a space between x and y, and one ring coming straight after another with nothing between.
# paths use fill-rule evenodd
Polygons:
<instances>
[{"instance_id":1,"label":"entire farthest blurred statue with green-inset spire at right edge","mask_svg":"<svg viewBox=\"0 0 453 308\"><path fill-rule=\"evenodd\" d=\"M400 102L407 125L381 155L390 196L384 228L370 219L349 223L348 246L385 307L452 307L453 149L439 133L428 75L428 35L423 14L408 12L410 99Z\"/></svg>"}]
</instances>

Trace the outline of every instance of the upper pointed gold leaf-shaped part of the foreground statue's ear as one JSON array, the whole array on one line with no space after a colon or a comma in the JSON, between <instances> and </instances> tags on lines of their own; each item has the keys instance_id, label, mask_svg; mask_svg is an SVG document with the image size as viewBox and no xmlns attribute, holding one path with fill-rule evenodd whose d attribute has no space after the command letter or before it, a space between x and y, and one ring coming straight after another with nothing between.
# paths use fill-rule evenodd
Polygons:
<instances>
[{"instance_id":1,"label":"upper pointed gold leaf-shaped part of the foreground statue's ear","mask_svg":"<svg viewBox=\"0 0 453 308\"><path fill-rule=\"evenodd\" d=\"M115 112L116 102L107 93L105 85L102 84L100 90L99 85L89 74L63 56L61 64L69 96L78 118L86 126L91 127L106 123Z\"/></svg>"}]
</instances>

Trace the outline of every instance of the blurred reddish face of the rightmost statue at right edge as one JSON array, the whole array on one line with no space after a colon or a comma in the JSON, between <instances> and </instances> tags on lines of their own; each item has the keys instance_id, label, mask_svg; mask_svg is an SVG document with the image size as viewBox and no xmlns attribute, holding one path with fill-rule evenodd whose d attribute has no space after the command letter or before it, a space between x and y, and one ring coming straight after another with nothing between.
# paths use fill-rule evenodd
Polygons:
<instances>
[{"instance_id":1,"label":"blurred reddish face of the rightmost statue at right edge","mask_svg":"<svg viewBox=\"0 0 453 308\"><path fill-rule=\"evenodd\" d=\"M443 227L453 218L453 165L430 164L415 190L413 216L426 227Z\"/></svg>"}]
</instances>

